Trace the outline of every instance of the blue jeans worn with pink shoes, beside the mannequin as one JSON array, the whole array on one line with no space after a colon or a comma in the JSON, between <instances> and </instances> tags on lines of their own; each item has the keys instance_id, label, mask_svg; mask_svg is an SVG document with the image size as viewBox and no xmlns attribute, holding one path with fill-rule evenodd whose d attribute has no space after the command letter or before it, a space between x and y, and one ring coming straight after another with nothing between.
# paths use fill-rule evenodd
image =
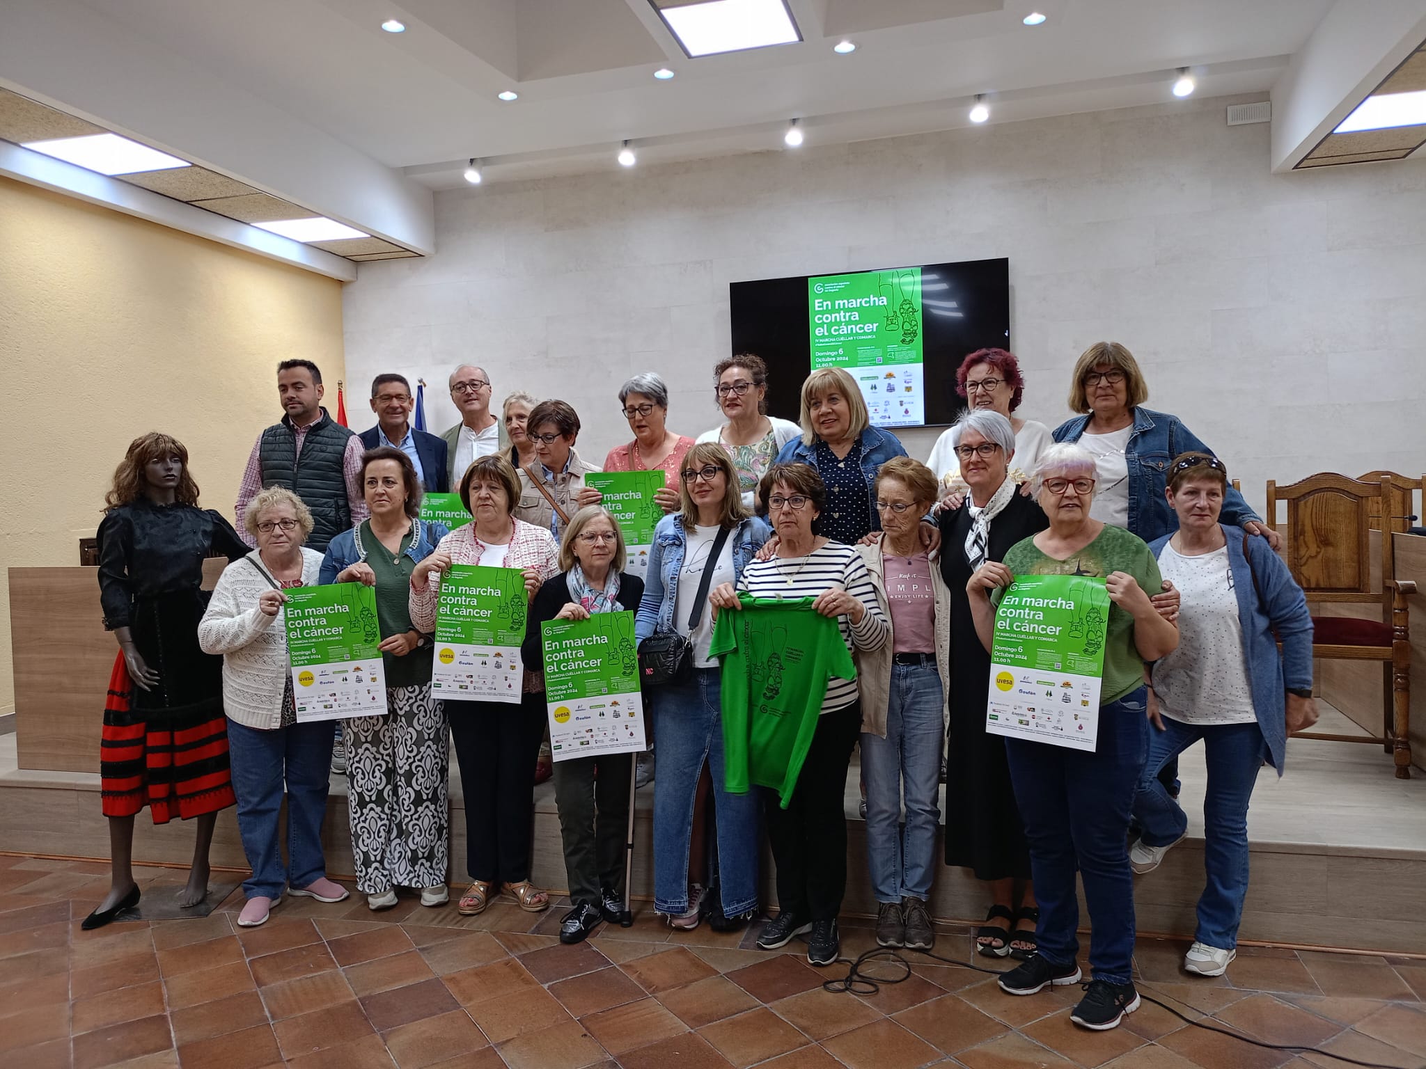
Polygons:
<instances>
[{"instance_id":1,"label":"blue jeans worn with pink shoes, beside the mannequin","mask_svg":"<svg viewBox=\"0 0 1426 1069\"><path fill-rule=\"evenodd\" d=\"M335 724L319 720L264 731L228 720L228 760L238 798L238 834L252 878L242 882L248 898L281 898L287 887L307 887L327 875L322 818L332 764ZM282 871L278 815L287 784L287 852Z\"/></svg>"}]
</instances>

